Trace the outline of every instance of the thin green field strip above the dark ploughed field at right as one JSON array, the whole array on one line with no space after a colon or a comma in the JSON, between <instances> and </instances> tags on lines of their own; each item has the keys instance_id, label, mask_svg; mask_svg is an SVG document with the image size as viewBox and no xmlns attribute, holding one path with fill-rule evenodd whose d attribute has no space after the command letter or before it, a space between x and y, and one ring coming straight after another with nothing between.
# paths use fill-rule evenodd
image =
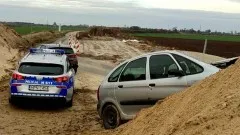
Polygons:
<instances>
[{"instance_id":1,"label":"thin green field strip above the dark ploughed field at right","mask_svg":"<svg viewBox=\"0 0 240 135\"><path fill-rule=\"evenodd\" d=\"M163 34L163 33L134 33L137 37L164 37L164 38L182 38L195 40L214 40L214 41L232 41L240 42L240 36L232 35L202 35L202 34Z\"/></svg>"}]
</instances>

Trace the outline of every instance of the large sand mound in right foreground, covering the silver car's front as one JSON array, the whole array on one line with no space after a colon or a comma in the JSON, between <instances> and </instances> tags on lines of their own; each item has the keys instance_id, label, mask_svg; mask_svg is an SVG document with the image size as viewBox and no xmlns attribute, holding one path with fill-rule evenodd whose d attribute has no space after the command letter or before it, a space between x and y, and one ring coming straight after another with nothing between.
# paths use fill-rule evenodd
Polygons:
<instances>
[{"instance_id":1,"label":"large sand mound in right foreground, covering the silver car's front","mask_svg":"<svg viewBox=\"0 0 240 135\"><path fill-rule=\"evenodd\" d=\"M240 134L240 61L142 110L111 134Z\"/></svg>"}]
</instances>

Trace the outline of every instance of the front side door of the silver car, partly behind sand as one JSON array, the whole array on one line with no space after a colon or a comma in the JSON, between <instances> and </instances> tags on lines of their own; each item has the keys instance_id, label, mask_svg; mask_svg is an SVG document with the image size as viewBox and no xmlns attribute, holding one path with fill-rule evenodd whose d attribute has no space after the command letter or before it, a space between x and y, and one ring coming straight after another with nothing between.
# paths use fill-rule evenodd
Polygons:
<instances>
[{"instance_id":1,"label":"front side door of the silver car, partly behind sand","mask_svg":"<svg viewBox=\"0 0 240 135\"><path fill-rule=\"evenodd\" d=\"M171 55L160 54L149 58L149 100L152 104L187 87L186 77L169 75L171 70L181 71Z\"/></svg>"}]
</instances>

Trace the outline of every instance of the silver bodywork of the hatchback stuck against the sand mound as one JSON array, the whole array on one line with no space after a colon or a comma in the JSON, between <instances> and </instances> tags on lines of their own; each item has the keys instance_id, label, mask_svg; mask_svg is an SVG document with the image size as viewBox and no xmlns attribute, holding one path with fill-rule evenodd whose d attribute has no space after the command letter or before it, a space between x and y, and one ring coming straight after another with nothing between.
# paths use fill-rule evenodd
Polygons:
<instances>
[{"instance_id":1,"label":"silver bodywork of the hatchback stuck against the sand mound","mask_svg":"<svg viewBox=\"0 0 240 135\"><path fill-rule=\"evenodd\" d=\"M153 55L168 55L174 61L178 69L183 70L179 62L172 54L180 55L194 63L197 63L203 68L202 72L197 74L170 76L167 78L151 79L150 77L150 57ZM121 66L123 63L130 63L134 60L146 57L146 79L141 81L109 82L109 77ZM145 107L152 106L158 100L162 100L167 96L179 92L186 87L210 76L219 71L219 68L210 64L206 64L177 51L160 51L144 54L135 58L126 60L119 66L115 67L103 80L99 89L98 112L101 116L102 109L106 104L114 104L120 113L122 120L132 119L136 113ZM125 66L121 73L125 70ZM120 78L120 77L118 77ZM153 86L151 84L154 84ZM122 86L119 88L118 86Z\"/></svg>"}]
</instances>

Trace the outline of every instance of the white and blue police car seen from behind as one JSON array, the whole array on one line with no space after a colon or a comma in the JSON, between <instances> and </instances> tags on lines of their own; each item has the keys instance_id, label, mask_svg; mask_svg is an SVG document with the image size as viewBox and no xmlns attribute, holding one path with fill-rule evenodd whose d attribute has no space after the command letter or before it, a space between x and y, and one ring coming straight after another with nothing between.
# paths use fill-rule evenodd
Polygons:
<instances>
[{"instance_id":1,"label":"white and blue police car seen from behind","mask_svg":"<svg viewBox=\"0 0 240 135\"><path fill-rule=\"evenodd\" d=\"M22 98L60 99L70 107L74 76L64 50L30 49L13 72L9 102Z\"/></svg>"}]
</instances>

